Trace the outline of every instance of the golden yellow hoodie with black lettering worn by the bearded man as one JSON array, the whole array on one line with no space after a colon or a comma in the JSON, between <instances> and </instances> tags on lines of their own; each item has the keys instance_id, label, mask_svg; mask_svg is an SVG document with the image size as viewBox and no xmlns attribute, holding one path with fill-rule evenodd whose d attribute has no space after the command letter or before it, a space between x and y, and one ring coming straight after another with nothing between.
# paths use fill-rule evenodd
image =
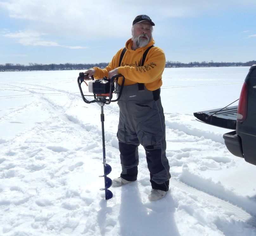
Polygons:
<instances>
[{"instance_id":1,"label":"golden yellow hoodie with black lettering worn by the bearded man","mask_svg":"<svg viewBox=\"0 0 256 236\"><path fill-rule=\"evenodd\" d=\"M144 51L155 44L155 41L151 38L148 45L136 50L131 49L132 44L133 41L130 38L125 44L126 52L120 67L118 67L118 63L123 48L116 53L105 69L93 67L95 69L95 79L102 79L104 76L108 77L109 71L118 68L118 74L122 74L125 77L125 86L144 83L147 90L150 91L160 88L162 86L162 74L165 67L163 50L158 47L152 47L146 56L144 66L138 66ZM121 82L121 78L118 79L118 84L121 84Z\"/></svg>"}]
</instances>

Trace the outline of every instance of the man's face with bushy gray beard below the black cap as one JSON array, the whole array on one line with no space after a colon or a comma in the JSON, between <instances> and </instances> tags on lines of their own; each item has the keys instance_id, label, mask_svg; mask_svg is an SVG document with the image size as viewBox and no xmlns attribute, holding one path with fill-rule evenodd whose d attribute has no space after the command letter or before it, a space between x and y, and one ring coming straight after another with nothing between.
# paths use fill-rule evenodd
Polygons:
<instances>
[{"instance_id":1,"label":"man's face with bushy gray beard below the black cap","mask_svg":"<svg viewBox=\"0 0 256 236\"><path fill-rule=\"evenodd\" d=\"M146 46L151 40L152 26L148 21L143 21L134 25L132 30L132 41L137 44L138 47Z\"/></svg>"}]
</instances>

